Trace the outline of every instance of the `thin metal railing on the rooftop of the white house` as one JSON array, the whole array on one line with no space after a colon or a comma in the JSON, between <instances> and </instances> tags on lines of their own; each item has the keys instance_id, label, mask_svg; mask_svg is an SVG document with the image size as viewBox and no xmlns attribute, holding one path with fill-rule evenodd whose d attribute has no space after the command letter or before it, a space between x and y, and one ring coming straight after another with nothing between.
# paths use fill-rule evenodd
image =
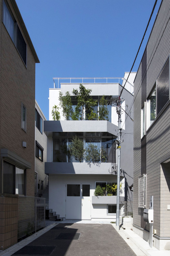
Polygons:
<instances>
[{"instance_id":1,"label":"thin metal railing on the rooftop of the white house","mask_svg":"<svg viewBox=\"0 0 170 256\"><path fill-rule=\"evenodd\" d=\"M61 83L119 83L122 84L123 77L54 77L54 89L60 89Z\"/></svg>"}]
</instances>

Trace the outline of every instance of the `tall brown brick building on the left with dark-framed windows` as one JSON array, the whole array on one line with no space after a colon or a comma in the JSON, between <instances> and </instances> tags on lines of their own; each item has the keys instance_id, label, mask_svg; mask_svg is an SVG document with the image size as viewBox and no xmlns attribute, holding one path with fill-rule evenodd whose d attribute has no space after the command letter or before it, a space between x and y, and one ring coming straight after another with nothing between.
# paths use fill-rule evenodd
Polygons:
<instances>
[{"instance_id":1,"label":"tall brown brick building on the left with dark-framed windows","mask_svg":"<svg viewBox=\"0 0 170 256\"><path fill-rule=\"evenodd\" d=\"M17 242L18 197L34 196L35 63L14 0L0 0L0 250Z\"/></svg>"}]
</instances>

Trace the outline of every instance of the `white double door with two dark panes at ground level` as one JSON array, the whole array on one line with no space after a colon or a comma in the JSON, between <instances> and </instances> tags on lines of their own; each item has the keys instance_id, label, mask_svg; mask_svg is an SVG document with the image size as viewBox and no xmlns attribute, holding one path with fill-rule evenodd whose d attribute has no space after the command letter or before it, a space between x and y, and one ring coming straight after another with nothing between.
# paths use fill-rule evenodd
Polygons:
<instances>
[{"instance_id":1,"label":"white double door with two dark panes at ground level","mask_svg":"<svg viewBox=\"0 0 170 256\"><path fill-rule=\"evenodd\" d=\"M90 188L90 184L66 184L66 219L91 219Z\"/></svg>"}]
</instances>

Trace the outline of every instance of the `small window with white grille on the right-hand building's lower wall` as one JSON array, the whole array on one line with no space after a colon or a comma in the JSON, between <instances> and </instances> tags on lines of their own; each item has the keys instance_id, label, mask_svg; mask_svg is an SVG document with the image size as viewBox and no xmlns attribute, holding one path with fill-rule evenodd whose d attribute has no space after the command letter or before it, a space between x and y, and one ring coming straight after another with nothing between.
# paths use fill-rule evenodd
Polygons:
<instances>
[{"instance_id":1,"label":"small window with white grille on the right-hand building's lower wall","mask_svg":"<svg viewBox=\"0 0 170 256\"><path fill-rule=\"evenodd\" d=\"M139 194L139 208L146 207L146 174L141 175L138 178L138 194Z\"/></svg>"}]
</instances>

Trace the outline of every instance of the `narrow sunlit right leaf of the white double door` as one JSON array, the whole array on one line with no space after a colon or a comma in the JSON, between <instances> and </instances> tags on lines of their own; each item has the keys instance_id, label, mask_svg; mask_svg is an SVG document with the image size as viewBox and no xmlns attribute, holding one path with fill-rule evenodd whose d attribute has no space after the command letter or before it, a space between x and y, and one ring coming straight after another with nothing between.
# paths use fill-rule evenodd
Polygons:
<instances>
[{"instance_id":1,"label":"narrow sunlit right leaf of the white double door","mask_svg":"<svg viewBox=\"0 0 170 256\"><path fill-rule=\"evenodd\" d=\"M90 184L81 184L81 219L91 219Z\"/></svg>"}]
</instances>

